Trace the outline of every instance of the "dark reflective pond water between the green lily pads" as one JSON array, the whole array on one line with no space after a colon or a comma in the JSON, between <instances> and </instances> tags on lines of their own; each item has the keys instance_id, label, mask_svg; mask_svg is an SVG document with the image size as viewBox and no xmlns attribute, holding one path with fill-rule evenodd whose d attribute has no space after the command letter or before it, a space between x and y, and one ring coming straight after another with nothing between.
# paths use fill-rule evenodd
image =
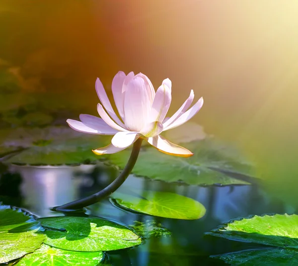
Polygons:
<instances>
[{"instance_id":1,"label":"dark reflective pond water between the green lily pads","mask_svg":"<svg viewBox=\"0 0 298 266\"><path fill-rule=\"evenodd\" d=\"M74 167L2 165L0 201L24 207L40 217L62 215L50 208L102 189L117 174L115 168L103 164ZM109 199L89 206L81 215L107 218L135 230L139 228L144 234L140 246L107 252L106 261L112 266L224 265L210 255L257 245L206 236L205 232L238 216L293 211L287 204L269 197L258 185L202 187L131 175L122 189L131 188L175 192L201 202L207 211L198 220L179 220L132 213L114 206Z\"/></svg>"}]
</instances>

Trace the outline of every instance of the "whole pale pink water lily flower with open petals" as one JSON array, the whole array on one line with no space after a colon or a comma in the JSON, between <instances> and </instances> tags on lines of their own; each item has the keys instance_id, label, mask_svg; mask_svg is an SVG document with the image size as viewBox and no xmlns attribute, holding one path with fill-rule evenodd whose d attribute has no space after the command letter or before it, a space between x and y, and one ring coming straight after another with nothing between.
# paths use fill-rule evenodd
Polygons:
<instances>
[{"instance_id":1,"label":"whole pale pink water lily flower with open petals","mask_svg":"<svg viewBox=\"0 0 298 266\"><path fill-rule=\"evenodd\" d=\"M137 139L143 138L157 150L181 157L192 156L189 150L166 140L160 133L180 126L191 119L202 107L201 97L191 108L194 99L193 90L182 106L171 116L166 117L171 104L172 83L165 79L161 86L154 90L149 78L139 73L125 75L119 71L112 82L112 93L119 116L114 111L105 89L97 78L95 89L101 102L97 111L101 118L81 114L81 121L68 119L71 128L76 131L114 135L112 143L106 147L93 150L95 154L113 154L131 146Z\"/></svg>"}]
</instances>

